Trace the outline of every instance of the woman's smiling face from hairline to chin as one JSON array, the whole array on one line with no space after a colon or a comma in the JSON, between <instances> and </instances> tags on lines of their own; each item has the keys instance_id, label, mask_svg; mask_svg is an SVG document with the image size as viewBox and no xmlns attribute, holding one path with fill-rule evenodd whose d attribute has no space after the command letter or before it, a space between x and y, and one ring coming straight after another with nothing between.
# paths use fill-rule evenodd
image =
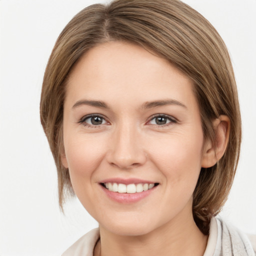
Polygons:
<instances>
[{"instance_id":1,"label":"woman's smiling face from hairline to chin","mask_svg":"<svg viewBox=\"0 0 256 256\"><path fill-rule=\"evenodd\" d=\"M107 42L66 89L62 163L99 225L138 235L191 216L203 154L191 80L140 46Z\"/></svg>"}]
</instances>

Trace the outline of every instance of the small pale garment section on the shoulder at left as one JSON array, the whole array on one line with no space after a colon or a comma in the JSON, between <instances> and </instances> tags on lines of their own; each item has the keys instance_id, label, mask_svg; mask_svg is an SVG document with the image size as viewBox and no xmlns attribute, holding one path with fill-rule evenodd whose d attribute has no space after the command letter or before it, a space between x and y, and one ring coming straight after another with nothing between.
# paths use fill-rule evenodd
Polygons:
<instances>
[{"instance_id":1,"label":"small pale garment section on the shoulder at left","mask_svg":"<svg viewBox=\"0 0 256 256\"><path fill-rule=\"evenodd\" d=\"M99 229L94 228L80 237L61 256L92 256L94 246L99 238Z\"/></svg>"}]
</instances>

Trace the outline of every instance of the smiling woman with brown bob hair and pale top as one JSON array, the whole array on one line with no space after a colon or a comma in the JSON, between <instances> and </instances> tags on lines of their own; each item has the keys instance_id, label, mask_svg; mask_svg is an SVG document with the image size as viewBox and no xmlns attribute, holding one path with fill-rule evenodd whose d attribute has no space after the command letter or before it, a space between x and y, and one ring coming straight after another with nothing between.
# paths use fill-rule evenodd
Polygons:
<instances>
[{"instance_id":1,"label":"smiling woman with brown bob hair and pale top","mask_svg":"<svg viewBox=\"0 0 256 256\"><path fill-rule=\"evenodd\" d=\"M178 0L116 0L79 12L49 58L41 123L59 203L98 221L63 255L254 255L214 216L241 139L226 47Z\"/></svg>"}]
</instances>

